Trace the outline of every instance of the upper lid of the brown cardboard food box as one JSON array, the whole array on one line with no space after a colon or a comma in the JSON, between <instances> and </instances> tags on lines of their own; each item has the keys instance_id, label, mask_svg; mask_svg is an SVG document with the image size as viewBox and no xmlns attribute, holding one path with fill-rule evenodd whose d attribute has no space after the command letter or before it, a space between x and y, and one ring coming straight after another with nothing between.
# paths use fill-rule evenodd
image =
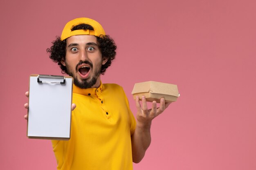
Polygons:
<instances>
[{"instance_id":1,"label":"upper lid of the brown cardboard food box","mask_svg":"<svg viewBox=\"0 0 256 170\"><path fill-rule=\"evenodd\" d=\"M132 90L132 94L146 92L163 95L172 95L176 97L180 96L177 85L175 84L167 84L154 81L135 83L134 88Z\"/></svg>"}]
</instances>

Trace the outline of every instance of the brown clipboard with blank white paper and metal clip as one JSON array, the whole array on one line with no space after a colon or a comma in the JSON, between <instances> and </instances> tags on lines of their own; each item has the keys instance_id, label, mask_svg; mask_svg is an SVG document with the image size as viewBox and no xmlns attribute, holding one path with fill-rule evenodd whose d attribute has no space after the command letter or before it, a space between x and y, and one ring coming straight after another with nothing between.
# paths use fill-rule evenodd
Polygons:
<instances>
[{"instance_id":1,"label":"brown clipboard with blank white paper and metal clip","mask_svg":"<svg viewBox=\"0 0 256 170\"><path fill-rule=\"evenodd\" d=\"M30 75L27 137L69 140L73 78Z\"/></svg>"}]
</instances>

